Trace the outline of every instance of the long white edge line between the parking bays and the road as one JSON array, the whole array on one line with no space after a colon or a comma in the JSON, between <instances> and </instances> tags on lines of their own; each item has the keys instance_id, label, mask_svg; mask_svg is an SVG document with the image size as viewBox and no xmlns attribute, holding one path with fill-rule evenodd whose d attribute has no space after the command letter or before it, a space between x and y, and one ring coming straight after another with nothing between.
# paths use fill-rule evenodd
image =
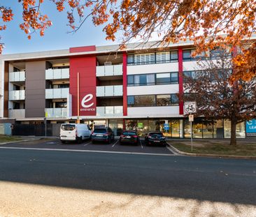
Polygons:
<instances>
[{"instance_id":1,"label":"long white edge line between the parking bays and the road","mask_svg":"<svg viewBox=\"0 0 256 217\"><path fill-rule=\"evenodd\" d=\"M139 153L125 151L94 151L94 150L74 150L74 149L36 149L36 148L18 148L18 147L0 147L0 149L23 149L23 150L38 150L38 151L73 151L73 152L95 152L108 154L138 154L138 155L153 155L153 156L176 156L174 154L154 154L154 153Z\"/></svg>"}]
</instances>

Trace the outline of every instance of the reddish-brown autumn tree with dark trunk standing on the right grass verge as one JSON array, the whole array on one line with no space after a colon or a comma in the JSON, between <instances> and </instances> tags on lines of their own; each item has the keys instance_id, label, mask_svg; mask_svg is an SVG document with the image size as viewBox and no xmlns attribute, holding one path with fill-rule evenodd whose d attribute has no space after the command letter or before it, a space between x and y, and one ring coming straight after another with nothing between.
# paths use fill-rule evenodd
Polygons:
<instances>
[{"instance_id":1,"label":"reddish-brown autumn tree with dark trunk standing on the right grass verge","mask_svg":"<svg viewBox=\"0 0 256 217\"><path fill-rule=\"evenodd\" d=\"M230 144L236 145L236 124L256 117L256 76L232 80L235 70L230 52L220 48L210 56L184 77L183 100L197 102L196 117L231 121Z\"/></svg>"}]
</instances>

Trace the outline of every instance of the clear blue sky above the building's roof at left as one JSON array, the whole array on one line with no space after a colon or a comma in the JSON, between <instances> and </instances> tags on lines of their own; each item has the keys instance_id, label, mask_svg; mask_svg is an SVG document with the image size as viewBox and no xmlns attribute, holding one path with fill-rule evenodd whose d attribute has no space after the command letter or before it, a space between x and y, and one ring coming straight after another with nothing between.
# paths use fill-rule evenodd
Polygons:
<instances>
[{"instance_id":1,"label":"clear blue sky above the building's roof at left","mask_svg":"<svg viewBox=\"0 0 256 217\"><path fill-rule=\"evenodd\" d=\"M27 35L19 27L22 22L22 5L17 0L3 0L1 5L10 6L13 9L14 19L7 23L7 29L1 31L1 43L4 43L3 54L13 54L21 52L37 52L43 50L60 50L69 47L79 47L86 45L113 45L120 41L109 41L105 39L102 32L104 26L94 27L89 19L83 24L77 33L67 33L70 28L66 26L66 12L59 13L54 3L45 0L42 13L48 15L52 21L52 27L45 30L45 36L41 37L39 32L27 39Z\"/></svg>"}]
</instances>

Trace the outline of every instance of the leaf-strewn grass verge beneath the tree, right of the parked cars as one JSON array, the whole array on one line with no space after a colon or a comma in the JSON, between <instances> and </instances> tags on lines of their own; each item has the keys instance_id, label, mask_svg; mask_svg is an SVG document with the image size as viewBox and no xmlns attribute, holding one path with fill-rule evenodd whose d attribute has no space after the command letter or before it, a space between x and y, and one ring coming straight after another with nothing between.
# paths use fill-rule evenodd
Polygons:
<instances>
[{"instance_id":1,"label":"leaf-strewn grass verge beneath the tree, right of the parked cars","mask_svg":"<svg viewBox=\"0 0 256 217\"><path fill-rule=\"evenodd\" d=\"M193 151L191 144L187 142L170 142L176 149L194 154L218 154L218 155L234 155L234 156L256 156L256 142L237 142L236 146L229 145L229 142L193 142Z\"/></svg>"}]
</instances>

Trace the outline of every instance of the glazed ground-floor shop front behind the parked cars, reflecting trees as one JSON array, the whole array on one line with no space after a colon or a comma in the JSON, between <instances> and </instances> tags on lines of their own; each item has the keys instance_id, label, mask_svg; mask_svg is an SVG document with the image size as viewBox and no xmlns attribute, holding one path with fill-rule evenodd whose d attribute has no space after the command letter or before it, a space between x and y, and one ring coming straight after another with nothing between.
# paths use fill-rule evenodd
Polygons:
<instances>
[{"instance_id":1,"label":"glazed ground-floor shop front behind the parked cars, reflecting trees","mask_svg":"<svg viewBox=\"0 0 256 217\"><path fill-rule=\"evenodd\" d=\"M188 119L159 118L159 119L103 119L82 120L92 128L109 126L115 135L120 135L122 130L136 130L138 135L145 136L152 130L160 130L164 135L173 138L190 138L191 129ZM168 123L168 127L164 128ZM231 136L231 124L228 120L206 121L195 119L192 124L194 138L229 138ZM246 137L245 121L236 125L236 137Z\"/></svg>"}]
</instances>

